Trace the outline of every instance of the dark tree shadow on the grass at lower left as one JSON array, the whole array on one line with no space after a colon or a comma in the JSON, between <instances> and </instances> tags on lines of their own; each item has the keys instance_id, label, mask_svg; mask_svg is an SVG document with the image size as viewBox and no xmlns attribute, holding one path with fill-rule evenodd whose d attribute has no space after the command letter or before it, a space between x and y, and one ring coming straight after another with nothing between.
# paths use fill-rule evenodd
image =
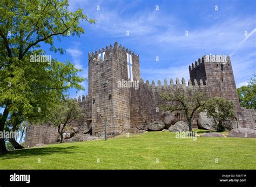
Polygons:
<instances>
[{"instance_id":1,"label":"dark tree shadow on the grass at lower left","mask_svg":"<svg viewBox=\"0 0 256 187\"><path fill-rule=\"evenodd\" d=\"M41 148L30 148L30 149L19 149L19 150L12 150L7 152L3 155L0 155L0 159L17 159L22 157L29 157L29 156L38 156L38 155L50 155L55 153L61 154L70 154L75 153L73 151L76 149L77 146L70 146L70 147L41 147Z\"/></svg>"}]
</instances>

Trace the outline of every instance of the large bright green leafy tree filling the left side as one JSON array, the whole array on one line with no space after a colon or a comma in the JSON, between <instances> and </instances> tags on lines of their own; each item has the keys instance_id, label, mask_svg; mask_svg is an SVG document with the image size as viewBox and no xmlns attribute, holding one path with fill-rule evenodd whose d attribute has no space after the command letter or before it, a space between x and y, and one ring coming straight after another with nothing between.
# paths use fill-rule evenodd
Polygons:
<instances>
[{"instance_id":1,"label":"large bright green leafy tree filling the left side","mask_svg":"<svg viewBox=\"0 0 256 187\"><path fill-rule=\"evenodd\" d=\"M39 49L42 42L63 54L53 45L54 39L79 37L84 33L81 20L95 23L81 9L69 12L68 6L68 1L58 0L0 1L0 131L12 113L30 120L43 118L68 89L83 89L79 83L84 79L77 76L81 69L70 62L30 61L31 55L45 54ZM0 139L0 154L6 151Z\"/></svg>"}]
</instances>

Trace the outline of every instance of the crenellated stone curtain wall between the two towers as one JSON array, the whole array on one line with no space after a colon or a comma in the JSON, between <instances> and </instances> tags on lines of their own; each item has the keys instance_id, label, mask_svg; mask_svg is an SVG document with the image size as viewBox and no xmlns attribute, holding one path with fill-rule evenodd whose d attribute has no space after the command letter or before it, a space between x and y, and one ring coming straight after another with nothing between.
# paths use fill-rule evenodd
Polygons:
<instances>
[{"instance_id":1,"label":"crenellated stone curtain wall between the two towers","mask_svg":"<svg viewBox=\"0 0 256 187\"><path fill-rule=\"evenodd\" d=\"M154 121L163 121L163 111L161 111L160 106L172 103L161 99L161 93L173 93L178 89L183 89L185 92L192 90L208 94L207 85L192 85L192 82L189 81L188 86L186 86L184 78L181 83L177 78L176 84L173 84L172 79L170 80L170 84L167 84L167 80L165 79L164 85L161 85L160 81L158 81L158 85L155 85L154 81L149 84L149 81L144 83L143 80L140 80L138 90L130 89L131 127L146 129L146 126ZM187 122L184 112L174 113L179 116L177 121L183 120ZM193 125L195 126L196 124L197 118L195 117L193 119Z\"/></svg>"}]
</instances>

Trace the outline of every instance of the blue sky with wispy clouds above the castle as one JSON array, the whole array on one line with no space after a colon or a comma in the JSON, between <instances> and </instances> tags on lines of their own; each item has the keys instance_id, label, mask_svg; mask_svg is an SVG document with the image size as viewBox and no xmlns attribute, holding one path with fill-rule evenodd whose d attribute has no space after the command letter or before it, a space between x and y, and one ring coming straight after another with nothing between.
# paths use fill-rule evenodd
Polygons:
<instances>
[{"instance_id":1,"label":"blue sky with wispy clouds above the castle","mask_svg":"<svg viewBox=\"0 0 256 187\"><path fill-rule=\"evenodd\" d=\"M164 78L184 77L187 82L188 66L210 53L231 56L237 87L256 73L256 1L71 0L69 4L70 11L81 8L96 24L84 21L80 38L56 41L56 46L66 49L64 55L48 53L83 68L82 77L88 74L87 53L115 41L139 54L144 81L163 83ZM43 48L48 51L49 46ZM83 85L85 91L70 90L70 96L86 95L87 82Z\"/></svg>"}]
</instances>

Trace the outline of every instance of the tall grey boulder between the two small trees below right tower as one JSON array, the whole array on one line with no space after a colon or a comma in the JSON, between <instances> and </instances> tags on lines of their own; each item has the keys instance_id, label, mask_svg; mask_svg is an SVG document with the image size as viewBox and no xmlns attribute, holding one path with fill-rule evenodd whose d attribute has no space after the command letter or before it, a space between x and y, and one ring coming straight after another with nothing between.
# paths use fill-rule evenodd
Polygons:
<instances>
[{"instance_id":1,"label":"tall grey boulder between the two small trees below right tower","mask_svg":"<svg viewBox=\"0 0 256 187\"><path fill-rule=\"evenodd\" d=\"M197 119L198 128L204 130L216 130L215 123L212 117L207 117L207 112L200 112Z\"/></svg>"}]
</instances>

